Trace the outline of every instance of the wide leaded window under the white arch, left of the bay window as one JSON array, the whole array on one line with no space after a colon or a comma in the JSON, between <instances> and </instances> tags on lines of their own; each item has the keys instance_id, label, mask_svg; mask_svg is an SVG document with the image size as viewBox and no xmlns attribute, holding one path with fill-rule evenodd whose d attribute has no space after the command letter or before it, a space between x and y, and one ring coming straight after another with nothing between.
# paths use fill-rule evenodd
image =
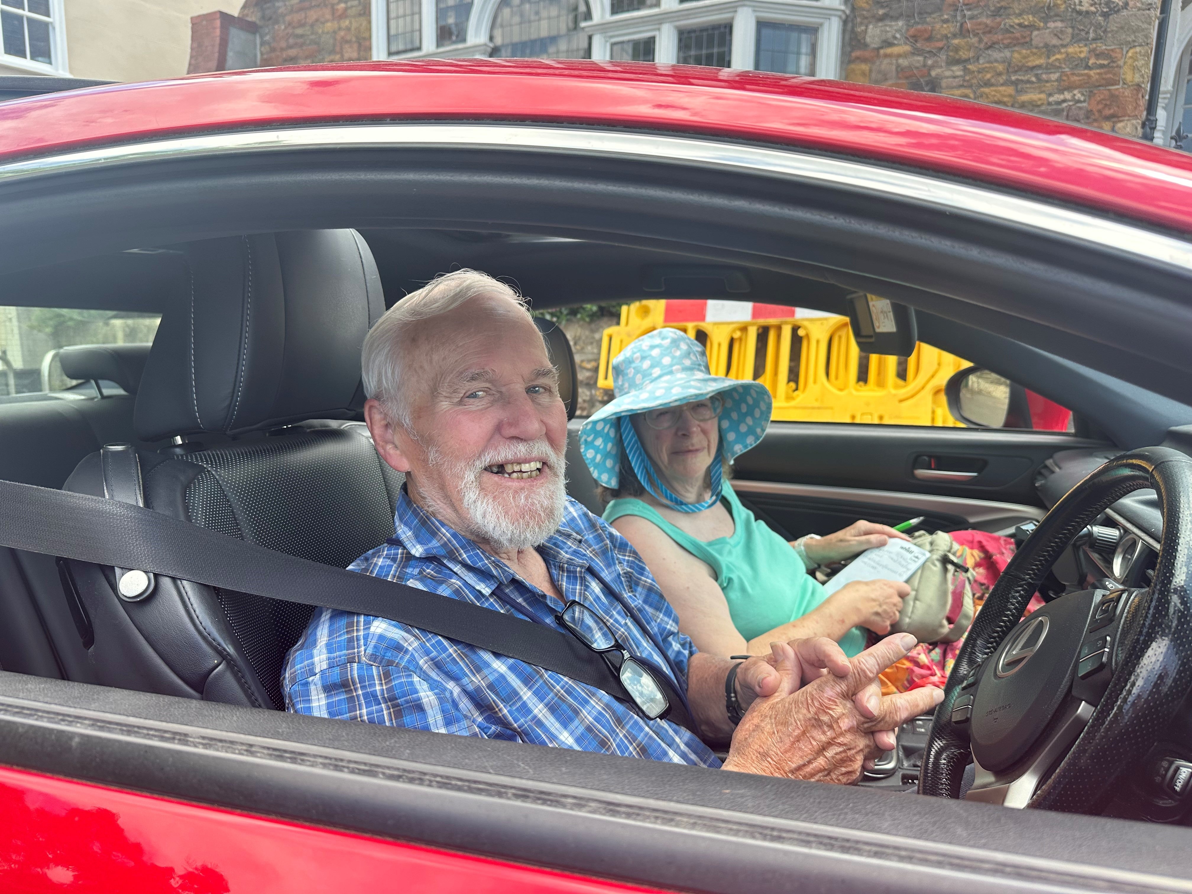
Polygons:
<instances>
[{"instance_id":1,"label":"wide leaded window under the white arch, left of the bay window","mask_svg":"<svg viewBox=\"0 0 1192 894\"><path fill-rule=\"evenodd\" d=\"M492 19L492 56L591 58L586 0L502 0Z\"/></svg>"}]
</instances>

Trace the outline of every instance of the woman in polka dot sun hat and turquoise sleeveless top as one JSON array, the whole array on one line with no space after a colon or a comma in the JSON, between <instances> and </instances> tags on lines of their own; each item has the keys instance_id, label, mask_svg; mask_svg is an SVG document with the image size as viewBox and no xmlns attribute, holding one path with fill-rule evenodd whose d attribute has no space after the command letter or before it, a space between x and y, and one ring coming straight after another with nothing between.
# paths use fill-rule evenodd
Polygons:
<instances>
[{"instance_id":1,"label":"woman in polka dot sun hat and turquoise sleeveless top","mask_svg":"<svg viewBox=\"0 0 1192 894\"><path fill-rule=\"evenodd\" d=\"M770 421L765 386L710 375L694 339L660 329L613 361L616 398L579 435L604 520L645 559L696 647L719 656L769 654L770 642L828 637L846 654L865 629L884 634L909 588L853 582L828 596L811 572L889 538L858 521L787 542L741 505L726 466Z\"/></svg>"}]
</instances>

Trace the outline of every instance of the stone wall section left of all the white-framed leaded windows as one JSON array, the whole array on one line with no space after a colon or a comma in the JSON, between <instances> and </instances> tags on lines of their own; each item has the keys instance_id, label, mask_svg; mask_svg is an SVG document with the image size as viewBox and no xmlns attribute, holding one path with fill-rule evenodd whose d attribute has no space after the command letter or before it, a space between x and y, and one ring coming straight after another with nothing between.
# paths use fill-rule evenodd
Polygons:
<instances>
[{"instance_id":1,"label":"stone wall section left of all the white-framed leaded windows","mask_svg":"<svg viewBox=\"0 0 1192 894\"><path fill-rule=\"evenodd\" d=\"M372 58L370 0L247 0L241 18L259 26L261 66Z\"/></svg>"}]
</instances>

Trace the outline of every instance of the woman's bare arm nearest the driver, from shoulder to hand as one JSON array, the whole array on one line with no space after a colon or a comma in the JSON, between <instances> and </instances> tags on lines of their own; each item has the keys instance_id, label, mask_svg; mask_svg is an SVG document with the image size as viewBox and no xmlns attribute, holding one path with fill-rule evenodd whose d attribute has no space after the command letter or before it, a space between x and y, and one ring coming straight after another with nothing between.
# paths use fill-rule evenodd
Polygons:
<instances>
[{"instance_id":1,"label":"woman's bare arm nearest the driver, from shoulder to hand","mask_svg":"<svg viewBox=\"0 0 1192 894\"><path fill-rule=\"evenodd\" d=\"M857 625L874 620L875 602L892 603L886 590L889 582L864 582L840 588L818 608L802 617L775 627L746 641L733 625L724 590L713 577L712 569L676 544L652 521L638 515L622 515L613 522L654 576L663 596L678 614L678 628L691 638L701 652L727 658L733 654L770 654L771 642L793 639L827 637L840 639ZM905 584L901 584L906 589ZM902 600L898 597L898 606ZM887 609L888 614L888 609ZM898 608L893 609L894 619ZM882 633L888 632L886 626Z\"/></svg>"}]
</instances>

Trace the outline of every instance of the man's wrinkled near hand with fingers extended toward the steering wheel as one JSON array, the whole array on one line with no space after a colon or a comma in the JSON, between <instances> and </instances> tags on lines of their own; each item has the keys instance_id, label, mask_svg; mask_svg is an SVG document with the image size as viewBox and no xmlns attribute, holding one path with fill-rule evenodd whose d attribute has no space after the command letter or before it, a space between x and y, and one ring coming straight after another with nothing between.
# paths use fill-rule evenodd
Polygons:
<instances>
[{"instance_id":1,"label":"man's wrinkled near hand with fingers extended toward the steering wheel","mask_svg":"<svg viewBox=\"0 0 1192 894\"><path fill-rule=\"evenodd\" d=\"M803 647L801 656L799 641L775 644L766 663L777 672L778 685L772 694L756 699L745 713L724 768L840 784L857 782L867 763L871 765L882 751L894 749L893 731L943 701L943 690L933 687L881 695L877 675L914 645L914 637L906 633L888 637L846 659L849 670L842 675L838 670L843 666L834 659L825 669L806 663L807 654L826 658L826 646ZM805 672L817 670L820 676L800 685ZM744 671L743 666L738 677ZM763 679L769 681L770 675Z\"/></svg>"}]
</instances>

